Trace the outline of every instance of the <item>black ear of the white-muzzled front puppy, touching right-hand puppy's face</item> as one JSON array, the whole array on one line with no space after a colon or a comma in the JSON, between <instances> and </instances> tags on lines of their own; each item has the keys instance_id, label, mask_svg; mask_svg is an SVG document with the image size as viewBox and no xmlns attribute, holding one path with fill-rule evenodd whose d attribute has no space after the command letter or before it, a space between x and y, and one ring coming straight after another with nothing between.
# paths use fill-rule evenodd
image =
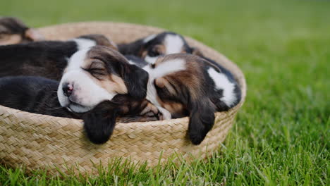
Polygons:
<instances>
[{"instance_id":1,"label":"black ear of the white-muzzled front puppy, touching right-hand puppy's face","mask_svg":"<svg viewBox=\"0 0 330 186\"><path fill-rule=\"evenodd\" d=\"M149 79L147 71L138 66L128 64L123 68L122 77L131 97L144 99L147 96Z\"/></svg>"}]
</instances>

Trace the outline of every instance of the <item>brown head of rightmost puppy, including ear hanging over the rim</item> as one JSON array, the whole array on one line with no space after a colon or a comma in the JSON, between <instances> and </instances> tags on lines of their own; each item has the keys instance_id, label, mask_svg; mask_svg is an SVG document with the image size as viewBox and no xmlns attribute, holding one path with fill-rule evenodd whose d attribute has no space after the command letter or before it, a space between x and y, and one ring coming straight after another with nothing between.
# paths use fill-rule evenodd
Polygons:
<instances>
[{"instance_id":1,"label":"brown head of rightmost puppy, including ear hanging over the rim","mask_svg":"<svg viewBox=\"0 0 330 186\"><path fill-rule=\"evenodd\" d=\"M145 69L157 92L156 104L172 116L189 115L190 140L200 144L214 124L215 111L202 58L190 54L161 56Z\"/></svg>"}]
</instances>

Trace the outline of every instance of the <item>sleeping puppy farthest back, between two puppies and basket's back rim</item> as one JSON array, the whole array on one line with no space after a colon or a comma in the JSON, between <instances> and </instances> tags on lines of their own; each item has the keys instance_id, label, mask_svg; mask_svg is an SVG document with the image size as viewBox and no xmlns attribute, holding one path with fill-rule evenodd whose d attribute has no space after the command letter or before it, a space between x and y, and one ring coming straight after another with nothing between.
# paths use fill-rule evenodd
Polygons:
<instances>
[{"instance_id":1,"label":"sleeping puppy farthest back, between two puppies and basket's back rim","mask_svg":"<svg viewBox=\"0 0 330 186\"><path fill-rule=\"evenodd\" d=\"M187 53L200 56L200 50L190 47L185 39L174 32L161 32L158 35L138 39L128 44L118 44L121 54L138 56L148 63L154 63L158 56Z\"/></svg>"}]
</instances>

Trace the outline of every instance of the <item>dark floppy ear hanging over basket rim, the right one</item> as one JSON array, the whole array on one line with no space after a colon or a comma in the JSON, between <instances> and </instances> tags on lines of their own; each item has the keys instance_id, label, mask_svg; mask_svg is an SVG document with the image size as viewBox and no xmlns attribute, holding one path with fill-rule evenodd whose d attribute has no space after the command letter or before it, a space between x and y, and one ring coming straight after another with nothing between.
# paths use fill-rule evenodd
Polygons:
<instances>
[{"instance_id":1,"label":"dark floppy ear hanging over basket rim, the right one","mask_svg":"<svg viewBox=\"0 0 330 186\"><path fill-rule=\"evenodd\" d=\"M195 102L190 109L188 134L193 144L200 144L214 125L214 106L209 99Z\"/></svg>"}]
</instances>

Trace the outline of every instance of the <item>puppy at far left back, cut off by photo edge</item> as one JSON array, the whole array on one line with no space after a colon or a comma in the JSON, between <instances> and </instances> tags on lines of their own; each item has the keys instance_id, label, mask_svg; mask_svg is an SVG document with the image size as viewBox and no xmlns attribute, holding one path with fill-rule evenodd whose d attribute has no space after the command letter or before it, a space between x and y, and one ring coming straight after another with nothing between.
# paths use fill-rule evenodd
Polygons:
<instances>
[{"instance_id":1,"label":"puppy at far left back, cut off by photo edge","mask_svg":"<svg viewBox=\"0 0 330 186\"><path fill-rule=\"evenodd\" d=\"M44 40L37 30L27 27L18 18L0 18L0 45Z\"/></svg>"}]
</instances>

